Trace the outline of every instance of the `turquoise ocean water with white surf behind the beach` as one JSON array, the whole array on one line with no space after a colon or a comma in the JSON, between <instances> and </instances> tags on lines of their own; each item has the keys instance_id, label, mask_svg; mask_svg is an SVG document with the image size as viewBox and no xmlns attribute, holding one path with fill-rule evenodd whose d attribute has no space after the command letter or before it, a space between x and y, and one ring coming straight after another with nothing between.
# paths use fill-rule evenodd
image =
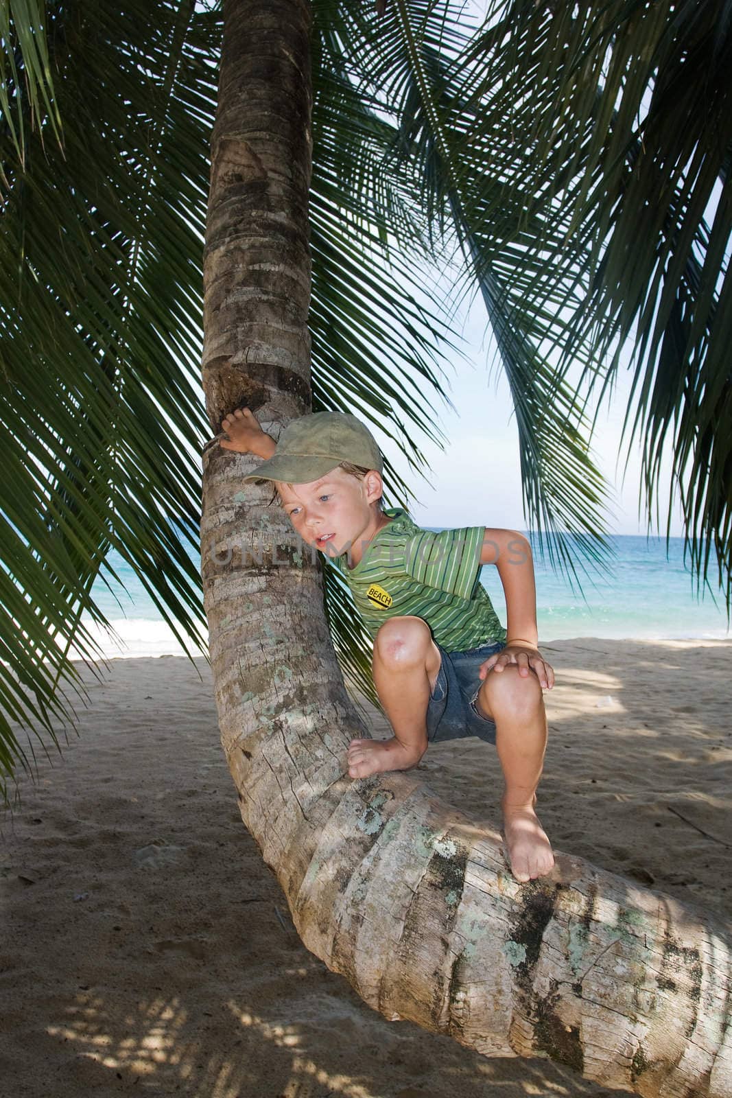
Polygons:
<instances>
[{"instance_id":1,"label":"turquoise ocean water with white surf behind the beach","mask_svg":"<svg viewBox=\"0 0 732 1098\"><path fill-rule=\"evenodd\" d=\"M430 527L440 529L441 527ZM729 639L724 601L710 592L695 594L684 563L684 542L672 538L666 557L663 539L618 535L610 539L616 557L601 579L581 576L583 594L558 575L534 550L539 640L574 637L629 639ZM112 552L110 563L124 586L98 580L93 595L116 637L93 629L105 658L182 654L182 649L128 564ZM493 565L481 581L506 621L503 589ZM713 580L713 573L712 573ZM72 653L74 654L74 653Z\"/></svg>"}]
</instances>

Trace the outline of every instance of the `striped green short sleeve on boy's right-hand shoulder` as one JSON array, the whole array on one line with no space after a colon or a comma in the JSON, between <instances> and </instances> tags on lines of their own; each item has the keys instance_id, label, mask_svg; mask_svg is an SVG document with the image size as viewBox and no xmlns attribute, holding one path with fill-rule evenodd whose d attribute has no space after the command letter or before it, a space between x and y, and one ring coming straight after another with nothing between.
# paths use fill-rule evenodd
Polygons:
<instances>
[{"instance_id":1,"label":"striped green short sleeve on boy's right-hand shoulder","mask_svg":"<svg viewBox=\"0 0 732 1098\"><path fill-rule=\"evenodd\" d=\"M481 568L485 526L457 530L419 530L406 544L407 575L449 595L470 598Z\"/></svg>"}]
</instances>

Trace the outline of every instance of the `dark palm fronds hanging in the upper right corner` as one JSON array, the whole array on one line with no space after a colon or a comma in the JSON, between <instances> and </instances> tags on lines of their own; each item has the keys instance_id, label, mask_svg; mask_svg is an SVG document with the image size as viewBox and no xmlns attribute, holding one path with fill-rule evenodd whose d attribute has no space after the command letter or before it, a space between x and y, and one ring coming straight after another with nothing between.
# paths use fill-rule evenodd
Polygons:
<instances>
[{"instance_id":1,"label":"dark palm fronds hanging in the upper right corner","mask_svg":"<svg viewBox=\"0 0 732 1098\"><path fill-rule=\"evenodd\" d=\"M496 3L465 57L476 100L508 89L523 152L511 193L543 195L545 261L576 273L558 378L587 348L578 388L599 407L630 348L624 437L629 453L641 447L649 526L662 523L663 496L668 536L680 500L697 582L713 567L729 612L727 7ZM528 292L541 299L540 276Z\"/></svg>"}]
</instances>

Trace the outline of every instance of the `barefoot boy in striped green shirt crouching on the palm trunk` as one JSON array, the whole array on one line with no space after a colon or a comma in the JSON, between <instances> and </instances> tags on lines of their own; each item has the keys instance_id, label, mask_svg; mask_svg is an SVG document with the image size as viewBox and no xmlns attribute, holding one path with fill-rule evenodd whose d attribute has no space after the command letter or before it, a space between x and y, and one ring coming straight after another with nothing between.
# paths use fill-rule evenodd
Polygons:
<instances>
[{"instance_id":1,"label":"barefoot boy in striped green shirt crouching on the palm trunk","mask_svg":"<svg viewBox=\"0 0 732 1098\"><path fill-rule=\"evenodd\" d=\"M351 740L349 775L409 770L430 740L495 743L513 873L522 882L549 873L554 859L534 805L547 746L542 688L554 673L537 650L529 542L489 527L435 534L401 508L382 509L382 455L356 416L302 416L279 442L249 408L222 427L224 449L263 459L246 479L273 482L296 533L342 572L373 637L373 681L394 736ZM498 569L508 635L480 583L482 564Z\"/></svg>"}]
</instances>

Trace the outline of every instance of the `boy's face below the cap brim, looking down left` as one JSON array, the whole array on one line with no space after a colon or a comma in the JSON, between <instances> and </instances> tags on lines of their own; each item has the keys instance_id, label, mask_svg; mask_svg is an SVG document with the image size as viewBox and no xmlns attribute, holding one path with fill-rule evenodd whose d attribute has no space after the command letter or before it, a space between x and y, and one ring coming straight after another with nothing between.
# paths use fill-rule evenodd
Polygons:
<instances>
[{"instance_id":1,"label":"boy's face below the cap brim, looking down left","mask_svg":"<svg viewBox=\"0 0 732 1098\"><path fill-rule=\"evenodd\" d=\"M340 557L356 545L373 523L371 503L381 495L378 473L367 473L361 481L342 469L306 484L278 481L277 488L297 534L328 557Z\"/></svg>"}]
</instances>

